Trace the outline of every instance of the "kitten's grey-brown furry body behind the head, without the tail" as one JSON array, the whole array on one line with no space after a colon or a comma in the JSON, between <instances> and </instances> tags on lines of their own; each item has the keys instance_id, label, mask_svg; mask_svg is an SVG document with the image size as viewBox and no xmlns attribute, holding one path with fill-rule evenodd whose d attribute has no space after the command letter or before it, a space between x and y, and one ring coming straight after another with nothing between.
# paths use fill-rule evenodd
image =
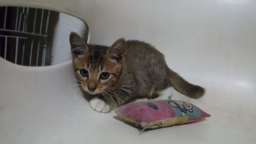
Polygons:
<instances>
[{"instance_id":1,"label":"kitten's grey-brown furry body behind the head, without the tail","mask_svg":"<svg viewBox=\"0 0 256 144\"><path fill-rule=\"evenodd\" d=\"M164 55L146 42L127 41L125 65L134 74L137 93L148 96L169 86L168 66Z\"/></svg>"}]
</instances>

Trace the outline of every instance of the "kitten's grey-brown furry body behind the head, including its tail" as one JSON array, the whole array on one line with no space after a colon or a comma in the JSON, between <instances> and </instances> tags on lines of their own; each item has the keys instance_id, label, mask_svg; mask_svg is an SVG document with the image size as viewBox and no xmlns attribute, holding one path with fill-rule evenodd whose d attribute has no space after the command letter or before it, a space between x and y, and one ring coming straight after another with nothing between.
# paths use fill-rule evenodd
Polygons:
<instances>
[{"instance_id":1,"label":"kitten's grey-brown furry body behind the head, including its tail","mask_svg":"<svg viewBox=\"0 0 256 144\"><path fill-rule=\"evenodd\" d=\"M200 98L205 90L201 86L195 86L187 82L166 65L164 55L154 46L146 42L126 42L125 64L134 74L139 95L149 95L150 91L163 90L168 86L174 86L182 94L190 98Z\"/></svg>"}]
</instances>

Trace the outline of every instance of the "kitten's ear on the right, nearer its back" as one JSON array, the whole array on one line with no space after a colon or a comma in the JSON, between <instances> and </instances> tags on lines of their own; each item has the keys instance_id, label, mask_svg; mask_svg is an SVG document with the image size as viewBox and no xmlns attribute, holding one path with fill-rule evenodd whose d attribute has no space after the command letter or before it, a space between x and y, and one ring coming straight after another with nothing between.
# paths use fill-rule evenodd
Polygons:
<instances>
[{"instance_id":1,"label":"kitten's ear on the right, nearer its back","mask_svg":"<svg viewBox=\"0 0 256 144\"><path fill-rule=\"evenodd\" d=\"M110 47L110 50L108 53L111 59L117 62L121 62L122 59L124 58L124 54L126 54L126 40L124 38L118 39Z\"/></svg>"}]
</instances>

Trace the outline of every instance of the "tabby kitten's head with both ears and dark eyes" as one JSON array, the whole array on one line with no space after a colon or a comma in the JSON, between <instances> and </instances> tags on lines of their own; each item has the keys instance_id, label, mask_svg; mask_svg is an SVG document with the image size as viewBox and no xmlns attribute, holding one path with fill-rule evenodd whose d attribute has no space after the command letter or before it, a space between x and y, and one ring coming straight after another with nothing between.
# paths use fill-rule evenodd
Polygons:
<instances>
[{"instance_id":1,"label":"tabby kitten's head with both ears and dark eyes","mask_svg":"<svg viewBox=\"0 0 256 144\"><path fill-rule=\"evenodd\" d=\"M99 94L116 86L122 73L126 41L118 39L110 47L88 45L78 34L70 34L73 66L82 89L89 94Z\"/></svg>"}]
</instances>

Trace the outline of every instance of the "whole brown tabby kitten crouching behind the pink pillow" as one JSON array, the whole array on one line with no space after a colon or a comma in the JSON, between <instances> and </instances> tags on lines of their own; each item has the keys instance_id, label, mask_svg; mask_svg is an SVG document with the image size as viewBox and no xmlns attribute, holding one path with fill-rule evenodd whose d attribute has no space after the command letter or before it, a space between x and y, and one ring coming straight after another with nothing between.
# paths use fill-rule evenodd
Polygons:
<instances>
[{"instance_id":1,"label":"whole brown tabby kitten crouching behind the pink pillow","mask_svg":"<svg viewBox=\"0 0 256 144\"><path fill-rule=\"evenodd\" d=\"M70 46L76 78L93 97L90 106L99 112L109 112L131 98L155 98L170 86L190 98L205 93L170 70L164 55L146 42L120 38L112 46L98 46L71 33Z\"/></svg>"}]
</instances>

